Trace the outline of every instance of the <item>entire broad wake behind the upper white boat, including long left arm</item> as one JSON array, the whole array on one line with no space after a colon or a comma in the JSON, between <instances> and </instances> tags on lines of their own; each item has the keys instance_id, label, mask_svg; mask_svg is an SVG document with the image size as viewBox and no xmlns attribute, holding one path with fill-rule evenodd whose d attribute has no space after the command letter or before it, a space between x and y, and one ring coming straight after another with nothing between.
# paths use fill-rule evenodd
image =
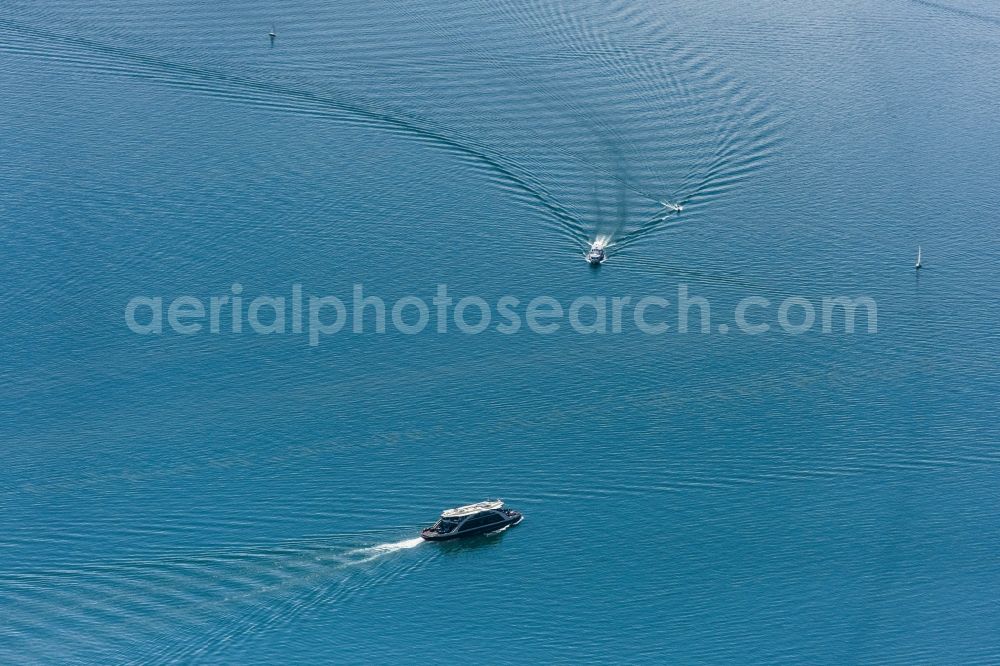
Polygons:
<instances>
[{"instance_id":1,"label":"entire broad wake behind the upper white boat, including long left arm","mask_svg":"<svg viewBox=\"0 0 1000 666\"><path fill-rule=\"evenodd\" d=\"M676 26L661 14L617 0L603 10L579 13L560 3L531 3L517 11L498 5L490 8L490 16L458 12L448 26L416 7L397 13L387 31L417 26L436 34L439 41L432 44L440 44L428 51L422 43L415 48L419 42L406 41L403 53L413 62L390 58L378 70L389 84L382 89L418 86L410 89L410 97L421 100L420 109L367 99L343 82L321 93L310 89L311 81L290 82L288 72L279 75L280 81L245 69L230 73L231 63L184 64L150 55L148 44L125 48L8 18L0 18L0 27L12 38L0 43L0 51L427 144L540 206L545 226L579 247L589 247L598 236L608 237L610 246L656 235L673 226L664 210L676 213L677 205L733 189L778 145L770 108L718 60L672 37ZM356 21L359 17L369 21L363 25L373 20L367 13L352 15ZM516 28L538 42L518 53L499 38L483 43L462 38L484 21ZM337 30L335 25L329 29ZM165 53L170 48L157 47ZM333 70L363 76L363 58L372 55L366 48L337 51ZM359 55L362 60L355 62ZM499 77L506 87L500 97L482 95L473 83L425 76L428 63L468 69L470 81ZM586 90L595 76L606 90L578 95L576 84ZM449 101L466 104L464 116L444 115L452 113ZM492 104L497 113L485 112L482 104ZM586 182L596 183L590 205Z\"/></svg>"}]
</instances>

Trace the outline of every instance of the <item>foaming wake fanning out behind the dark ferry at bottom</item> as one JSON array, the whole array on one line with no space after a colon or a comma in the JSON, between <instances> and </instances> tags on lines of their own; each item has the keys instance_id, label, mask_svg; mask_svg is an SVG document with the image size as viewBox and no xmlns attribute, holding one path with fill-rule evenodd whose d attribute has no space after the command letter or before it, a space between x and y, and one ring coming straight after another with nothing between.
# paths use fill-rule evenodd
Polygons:
<instances>
[{"instance_id":1,"label":"foaming wake fanning out behind the dark ferry at bottom","mask_svg":"<svg viewBox=\"0 0 1000 666\"><path fill-rule=\"evenodd\" d=\"M319 603L405 574L427 557L393 556L422 543L417 537L331 549L305 542L2 574L0 604L10 611L0 657L204 658ZM58 625L53 617L61 618ZM42 634L48 638L37 642Z\"/></svg>"}]
</instances>

